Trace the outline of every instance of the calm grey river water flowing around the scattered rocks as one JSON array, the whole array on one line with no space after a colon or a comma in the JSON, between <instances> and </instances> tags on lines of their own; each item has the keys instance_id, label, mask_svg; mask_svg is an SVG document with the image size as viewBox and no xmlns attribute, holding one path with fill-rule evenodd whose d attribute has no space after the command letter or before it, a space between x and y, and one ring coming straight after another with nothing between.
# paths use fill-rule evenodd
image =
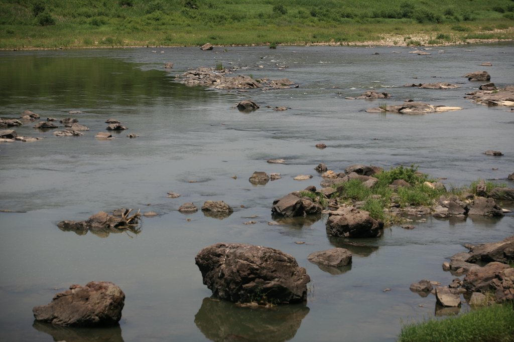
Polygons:
<instances>
[{"instance_id":1,"label":"calm grey river water flowing around the scattered rocks","mask_svg":"<svg viewBox=\"0 0 514 342\"><path fill-rule=\"evenodd\" d=\"M19 135L44 139L0 144L0 210L12 211L0 212L0 341L393 341L402 320L440 314L435 297L411 292L411 283L429 279L448 285L454 276L441 265L464 251L463 244L513 234L511 214L416 218L412 231L392 226L381 238L351 241L366 247L328 237L324 216L267 224L273 221L274 199L319 187L314 167L320 162L336 173L352 164L415 163L446 178L447 187L479 177L512 186L506 178L514 172L514 113L464 99L481 82L462 78L487 68L498 87L512 84L512 44L435 47L430 56L400 47L227 50L0 52L2 118L31 110L42 120L76 117L90 128L83 137L55 137L53 130L25 122L15 128ZM172 71L162 68L166 62L175 64ZM217 62L243 68L235 74L288 78L299 87L238 92L175 81L190 67ZM482 67L483 62L493 66ZM402 87L414 82L463 82L463 87ZM393 97L344 99L371 89ZM250 113L232 108L244 99L261 108ZM403 99L464 109L427 115L363 111ZM69 115L70 110L85 113ZM129 129L113 140L94 138L109 118ZM139 138L126 138L132 132ZM317 143L328 147L317 149ZM482 154L489 149L505 155ZM276 158L287 162L266 162ZM248 178L254 171L281 173L282 179L252 185ZM300 174L314 177L292 179ZM169 191L181 196L167 198ZM224 200L235 212L223 220L201 211L177 212L185 202L201 206L206 200ZM57 227L61 220L85 220L119 207L159 216L143 218L136 232L119 234ZM246 218L252 215L258 217ZM257 223L245 225L249 220ZM210 298L194 257L216 242L264 245L295 257L312 279L306 305L248 309ZM307 261L308 254L334 246L352 251L351 267L331 274ZM119 327L68 329L34 322L32 307L91 280L112 281L124 291ZM392 291L382 292L386 288Z\"/></svg>"}]
</instances>

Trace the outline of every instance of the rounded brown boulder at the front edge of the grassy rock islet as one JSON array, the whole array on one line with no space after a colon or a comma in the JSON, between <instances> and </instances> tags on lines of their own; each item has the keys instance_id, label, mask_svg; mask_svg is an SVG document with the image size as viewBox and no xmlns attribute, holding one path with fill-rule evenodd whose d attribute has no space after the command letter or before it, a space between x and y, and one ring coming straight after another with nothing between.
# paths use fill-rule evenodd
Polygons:
<instances>
[{"instance_id":1,"label":"rounded brown boulder at the front edge of the grassy rock islet","mask_svg":"<svg viewBox=\"0 0 514 342\"><path fill-rule=\"evenodd\" d=\"M384 223L375 220L369 212L347 207L328 214L326 231L328 235L346 238L378 237L382 235Z\"/></svg>"}]
</instances>

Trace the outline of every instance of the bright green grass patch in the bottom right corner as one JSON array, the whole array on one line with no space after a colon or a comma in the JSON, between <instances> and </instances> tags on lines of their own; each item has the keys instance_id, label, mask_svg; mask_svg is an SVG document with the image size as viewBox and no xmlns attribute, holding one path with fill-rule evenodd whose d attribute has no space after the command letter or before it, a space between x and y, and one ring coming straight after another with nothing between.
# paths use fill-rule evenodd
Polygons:
<instances>
[{"instance_id":1,"label":"bright green grass patch in the bottom right corner","mask_svg":"<svg viewBox=\"0 0 514 342\"><path fill-rule=\"evenodd\" d=\"M429 318L401 328L398 342L512 342L514 308L510 303L478 308L460 316Z\"/></svg>"}]
</instances>

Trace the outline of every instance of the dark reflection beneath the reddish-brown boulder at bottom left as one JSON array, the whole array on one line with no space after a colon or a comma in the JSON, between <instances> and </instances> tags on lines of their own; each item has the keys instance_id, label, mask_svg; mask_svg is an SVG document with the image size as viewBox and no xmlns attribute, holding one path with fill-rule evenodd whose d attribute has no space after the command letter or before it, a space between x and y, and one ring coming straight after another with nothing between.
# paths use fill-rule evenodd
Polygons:
<instances>
[{"instance_id":1,"label":"dark reflection beneath the reddish-brown boulder at bottom left","mask_svg":"<svg viewBox=\"0 0 514 342\"><path fill-rule=\"evenodd\" d=\"M47 333L54 341L66 342L123 342L121 327L105 328L70 328L34 320L32 327L35 330Z\"/></svg>"}]
</instances>

